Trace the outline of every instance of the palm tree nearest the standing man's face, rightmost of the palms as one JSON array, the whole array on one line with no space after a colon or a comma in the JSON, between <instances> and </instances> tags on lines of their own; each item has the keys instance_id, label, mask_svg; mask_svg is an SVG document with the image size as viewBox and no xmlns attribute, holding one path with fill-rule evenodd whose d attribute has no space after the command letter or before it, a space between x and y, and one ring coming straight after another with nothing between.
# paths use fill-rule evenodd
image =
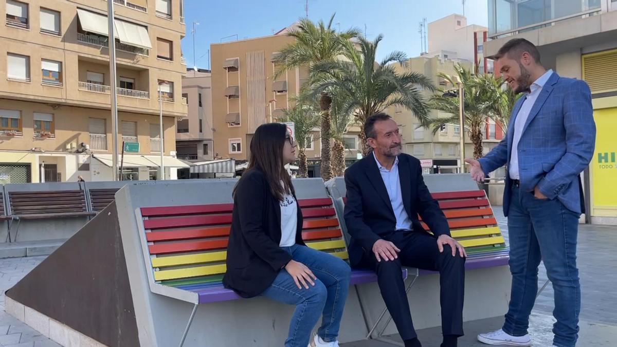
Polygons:
<instances>
[{"instance_id":1,"label":"palm tree nearest the standing man's face, rightmost of the palms","mask_svg":"<svg viewBox=\"0 0 617 347\"><path fill-rule=\"evenodd\" d=\"M463 121L465 128L469 129L471 143L473 143L473 156L478 159L482 156L482 127L486 125L487 117L492 115L495 106L495 95L493 90L482 88L482 83L478 82L478 77L473 75L470 70L465 69L460 64L455 66L460 83L463 85ZM439 73L439 77L444 78L450 85L457 85L457 82L452 77L445 73ZM458 91L455 92L458 95ZM459 98L453 97L445 90L440 89L437 93L431 96L431 108L451 114L450 117L441 117L433 119L431 125L433 134L446 124L459 123ZM461 129L461 132L465 129Z\"/></svg>"}]
</instances>

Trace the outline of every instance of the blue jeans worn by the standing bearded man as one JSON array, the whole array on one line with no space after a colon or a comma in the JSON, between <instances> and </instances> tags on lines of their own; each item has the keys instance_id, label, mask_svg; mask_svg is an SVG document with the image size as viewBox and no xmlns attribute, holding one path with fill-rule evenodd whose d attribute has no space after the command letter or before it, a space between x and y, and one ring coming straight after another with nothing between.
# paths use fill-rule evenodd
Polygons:
<instances>
[{"instance_id":1,"label":"blue jeans worn by the standing bearded man","mask_svg":"<svg viewBox=\"0 0 617 347\"><path fill-rule=\"evenodd\" d=\"M578 339L581 285L576 268L579 214L558 199L537 199L532 192L512 188L508 212L510 236L510 307L503 331L523 336L536 301L538 265L544 262L555 292L553 343L573 347Z\"/></svg>"}]
</instances>

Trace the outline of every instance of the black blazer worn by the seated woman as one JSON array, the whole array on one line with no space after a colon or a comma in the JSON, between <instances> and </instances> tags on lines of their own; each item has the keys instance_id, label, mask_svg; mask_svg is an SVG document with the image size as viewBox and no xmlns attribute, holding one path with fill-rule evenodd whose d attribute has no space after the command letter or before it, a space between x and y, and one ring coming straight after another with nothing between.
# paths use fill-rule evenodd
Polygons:
<instances>
[{"instance_id":1,"label":"black blazer worn by the seated woman","mask_svg":"<svg viewBox=\"0 0 617 347\"><path fill-rule=\"evenodd\" d=\"M294 198L296 198L294 194ZM296 244L302 241L302 211L298 207ZM243 298L260 295L274 282L278 272L291 260L281 243L281 205L270 191L262 171L249 170L238 181L234 197L226 288Z\"/></svg>"}]
</instances>

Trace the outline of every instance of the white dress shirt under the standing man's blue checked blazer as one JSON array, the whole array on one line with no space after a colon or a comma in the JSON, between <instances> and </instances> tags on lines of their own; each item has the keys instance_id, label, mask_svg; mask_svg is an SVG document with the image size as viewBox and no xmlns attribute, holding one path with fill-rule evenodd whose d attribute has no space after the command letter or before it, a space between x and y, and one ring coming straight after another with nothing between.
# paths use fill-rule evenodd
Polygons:
<instances>
[{"instance_id":1,"label":"white dress shirt under the standing man's blue checked blazer","mask_svg":"<svg viewBox=\"0 0 617 347\"><path fill-rule=\"evenodd\" d=\"M516 115L516 120L514 121L514 135L512 139L510 166L508 167L510 178L513 180L520 180L521 178L518 172L518 141L521 140L521 135L523 135L523 127L529 118L531 108L536 103L536 99L542 91L542 87L544 87L552 74L553 70L549 70L545 72L544 75L540 76L536 82L532 83L531 87L529 87L531 93L524 96L525 100L523 101L523 105L521 106L521 109L518 110L518 114Z\"/></svg>"}]
</instances>

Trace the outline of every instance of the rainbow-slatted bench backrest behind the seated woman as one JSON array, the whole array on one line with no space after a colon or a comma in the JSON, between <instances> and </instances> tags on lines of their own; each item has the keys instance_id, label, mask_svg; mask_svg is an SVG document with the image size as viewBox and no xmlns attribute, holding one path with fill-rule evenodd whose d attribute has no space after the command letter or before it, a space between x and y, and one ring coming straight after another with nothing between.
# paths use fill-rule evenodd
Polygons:
<instances>
[{"instance_id":1,"label":"rainbow-slatted bench backrest behind the seated woman","mask_svg":"<svg viewBox=\"0 0 617 347\"><path fill-rule=\"evenodd\" d=\"M347 259L331 198L299 199L307 245ZM147 253L155 282L170 285L220 282L233 204L141 207Z\"/></svg>"}]
</instances>

